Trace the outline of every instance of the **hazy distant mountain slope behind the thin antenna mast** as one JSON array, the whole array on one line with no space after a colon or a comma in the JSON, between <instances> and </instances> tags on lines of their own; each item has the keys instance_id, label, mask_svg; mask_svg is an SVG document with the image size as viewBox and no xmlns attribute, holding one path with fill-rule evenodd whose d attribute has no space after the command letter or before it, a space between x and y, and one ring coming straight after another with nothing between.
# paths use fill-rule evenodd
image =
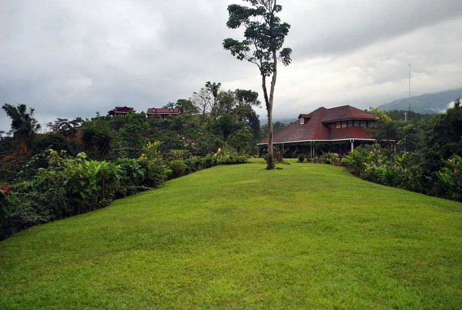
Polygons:
<instances>
[{"instance_id":1,"label":"hazy distant mountain slope behind the thin antenna mast","mask_svg":"<svg viewBox=\"0 0 462 310\"><path fill-rule=\"evenodd\" d=\"M448 108L449 104L458 97L462 97L462 88L414 96L411 97L411 110L416 113L444 112ZM407 110L408 103L409 98L403 98L383 104L378 108L382 111Z\"/></svg>"}]
</instances>

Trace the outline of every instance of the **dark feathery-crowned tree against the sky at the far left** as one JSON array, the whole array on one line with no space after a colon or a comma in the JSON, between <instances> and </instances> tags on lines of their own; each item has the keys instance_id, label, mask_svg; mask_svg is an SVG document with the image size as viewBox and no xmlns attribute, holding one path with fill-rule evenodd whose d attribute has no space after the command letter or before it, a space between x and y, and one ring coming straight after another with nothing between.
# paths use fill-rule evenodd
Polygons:
<instances>
[{"instance_id":1,"label":"dark feathery-crowned tree against the sky at the far left","mask_svg":"<svg viewBox=\"0 0 462 310\"><path fill-rule=\"evenodd\" d=\"M20 141L20 154L25 155L28 146L31 145L35 132L40 130L40 124L34 119L34 109L30 108L27 113L25 104L18 104L16 107L11 104L4 104L2 109L5 110L11 119L11 131L13 137Z\"/></svg>"}]
</instances>

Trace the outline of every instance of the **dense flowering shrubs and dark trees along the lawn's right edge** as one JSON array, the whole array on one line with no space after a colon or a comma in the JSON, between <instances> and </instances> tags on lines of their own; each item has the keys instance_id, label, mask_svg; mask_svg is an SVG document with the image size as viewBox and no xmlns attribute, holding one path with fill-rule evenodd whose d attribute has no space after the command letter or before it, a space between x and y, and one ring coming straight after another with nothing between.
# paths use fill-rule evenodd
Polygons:
<instances>
[{"instance_id":1,"label":"dense flowering shrubs and dark trees along the lawn's right edge","mask_svg":"<svg viewBox=\"0 0 462 310\"><path fill-rule=\"evenodd\" d=\"M396 186L437 197L462 201L462 105L460 99L430 121L393 121L377 113L374 137L380 145L359 147L344 161L354 175L383 185Z\"/></svg>"}]
</instances>

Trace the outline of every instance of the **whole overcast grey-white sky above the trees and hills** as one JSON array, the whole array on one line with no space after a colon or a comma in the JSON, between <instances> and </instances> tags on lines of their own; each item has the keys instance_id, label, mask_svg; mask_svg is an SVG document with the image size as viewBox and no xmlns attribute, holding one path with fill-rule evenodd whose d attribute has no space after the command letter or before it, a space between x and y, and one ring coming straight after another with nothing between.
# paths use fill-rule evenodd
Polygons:
<instances>
[{"instance_id":1,"label":"whole overcast grey-white sky above the trees and hills","mask_svg":"<svg viewBox=\"0 0 462 310\"><path fill-rule=\"evenodd\" d=\"M138 111L188 98L206 81L258 90L257 67L223 50L240 0L1 0L0 102L44 124L114 106ZM292 25L274 117L319 106L378 106L462 86L460 0L280 0ZM264 109L258 111L266 117ZM9 129L0 111L0 130Z\"/></svg>"}]
</instances>

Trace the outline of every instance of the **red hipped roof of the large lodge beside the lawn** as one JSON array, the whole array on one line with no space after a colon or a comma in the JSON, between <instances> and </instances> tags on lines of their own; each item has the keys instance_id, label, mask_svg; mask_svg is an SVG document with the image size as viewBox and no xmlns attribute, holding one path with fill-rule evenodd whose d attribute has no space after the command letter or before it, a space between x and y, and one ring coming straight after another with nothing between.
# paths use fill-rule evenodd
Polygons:
<instances>
[{"instance_id":1,"label":"red hipped roof of the large lodge beside the lawn","mask_svg":"<svg viewBox=\"0 0 462 310\"><path fill-rule=\"evenodd\" d=\"M299 119L302 117L305 119L303 124L300 121L295 121L276 132L273 137L273 143L372 139L372 135L365 133L363 127L335 128L335 124L329 124L336 121L353 119L375 120L374 114L352 106L342 106L332 109L321 107L310 114L300 114ZM266 138L259 144L267 143L268 139Z\"/></svg>"}]
</instances>

